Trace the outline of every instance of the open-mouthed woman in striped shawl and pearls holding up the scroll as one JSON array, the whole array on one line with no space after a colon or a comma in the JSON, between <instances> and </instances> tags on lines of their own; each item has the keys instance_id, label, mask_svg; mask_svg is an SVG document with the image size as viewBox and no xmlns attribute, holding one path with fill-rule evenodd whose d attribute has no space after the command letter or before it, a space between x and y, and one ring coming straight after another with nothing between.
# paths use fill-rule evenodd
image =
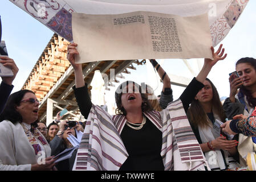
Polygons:
<instances>
[{"instance_id":1,"label":"open-mouthed woman in striped shawl and pearls holding up the scroll","mask_svg":"<svg viewBox=\"0 0 256 182\"><path fill-rule=\"evenodd\" d=\"M79 109L87 118L73 170L205 170L209 169L189 125L182 102L171 102L157 112L145 97L144 85L127 81L115 93L117 115L93 105L82 65L75 63L77 44L67 58L75 72L73 87ZM197 76L203 82L222 57L213 52Z\"/></svg>"}]
</instances>

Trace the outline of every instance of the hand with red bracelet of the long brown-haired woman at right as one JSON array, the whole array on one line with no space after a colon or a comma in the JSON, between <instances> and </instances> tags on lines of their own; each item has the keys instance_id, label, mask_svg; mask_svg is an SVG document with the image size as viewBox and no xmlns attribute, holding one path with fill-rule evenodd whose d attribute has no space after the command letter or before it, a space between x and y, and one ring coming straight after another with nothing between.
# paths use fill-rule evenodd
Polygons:
<instances>
[{"instance_id":1,"label":"hand with red bracelet of the long brown-haired woman at right","mask_svg":"<svg viewBox=\"0 0 256 182\"><path fill-rule=\"evenodd\" d=\"M213 148L229 151L231 148L237 146L237 140L227 140L226 137L221 135L220 137L212 140Z\"/></svg>"}]
</instances>

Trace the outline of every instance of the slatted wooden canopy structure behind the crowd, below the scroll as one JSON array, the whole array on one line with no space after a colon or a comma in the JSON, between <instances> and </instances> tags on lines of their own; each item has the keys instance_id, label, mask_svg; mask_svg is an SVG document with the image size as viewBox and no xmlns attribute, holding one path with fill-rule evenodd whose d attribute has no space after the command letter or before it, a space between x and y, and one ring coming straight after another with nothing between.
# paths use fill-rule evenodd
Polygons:
<instances>
[{"instance_id":1,"label":"slatted wooden canopy structure behind the crowd, below the scroll","mask_svg":"<svg viewBox=\"0 0 256 182\"><path fill-rule=\"evenodd\" d=\"M39 105L39 121L47 125L54 121L58 111L66 108L66 115L79 117L80 111L75 100L72 86L75 85L75 75L71 64L66 59L67 46L70 44L57 34L54 34L39 57L22 89L35 92L41 102ZM136 69L133 64L142 65L145 60L108 60L82 64L84 80L91 89L90 83L94 71L105 73L105 86L115 86L113 82L119 82L116 78L124 78L122 73L129 74L128 69ZM111 78L111 69L115 69L115 77ZM65 119L65 117L63 118Z\"/></svg>"}]
</instances>

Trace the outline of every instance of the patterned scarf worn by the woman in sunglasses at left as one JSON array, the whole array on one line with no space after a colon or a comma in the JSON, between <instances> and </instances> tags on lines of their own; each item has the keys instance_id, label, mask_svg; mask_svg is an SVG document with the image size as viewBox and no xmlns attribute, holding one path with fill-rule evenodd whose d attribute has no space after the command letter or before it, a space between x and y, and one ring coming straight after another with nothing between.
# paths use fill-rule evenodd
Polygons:
<instances>
[{"instance_id":1,"label":"patterned scarf worn by the woman in sunglasses at left","mask_svg":"<svg viewBox=\"0 0 256 182\"><path fill-rule=\"evenodd\" d=\"M40 131L38 131L38 129L36 129L34 126L30 126L32 128L32 132L30 131L30 127L26 126L25 123L21 123L21 126L25 131L29 143L35 150L35 155L37 155L39 151L42 151L42 148L38 144L38 140L40 141L40 143L42 143L43 146L47 144L46 140L43 139Z\"/></svg>"}]
</instances>

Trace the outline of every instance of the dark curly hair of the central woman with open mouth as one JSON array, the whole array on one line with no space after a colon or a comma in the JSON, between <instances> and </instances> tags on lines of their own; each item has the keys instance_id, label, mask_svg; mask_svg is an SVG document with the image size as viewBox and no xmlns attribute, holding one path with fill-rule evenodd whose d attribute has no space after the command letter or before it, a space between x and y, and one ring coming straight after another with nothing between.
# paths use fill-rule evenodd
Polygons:
<instances>
[{"instance_id":1,"label":"dark curly hair of the central woman with open mouth","mask_svg":"<svg viewBox=\"0 0 256 182\"><path fill-rule=\"evenodd\" d=\"M146 92L141 93L141 91L142 91L141 86L134 81L125 81L117 87L116 92L115 92L115 100L116 100L116 106L117 106L116 114L127 115L127 111L124 109L122 102L121 102L121 96L123 94L123 88L125 88L125 86L127 86L127 88L128 88L129 84L134 85L133 92L135 92L135 86L136 86L136 88L139 88L139 92L140 92L141 98L142 98L141 110L143 112L153 110L152 106L147 98L147 94L145 94ZM146 88L146 87L144 87L144 88ZM145 89L144 89L144 91L145 91Z\"/></svg>"}]
</instances>

